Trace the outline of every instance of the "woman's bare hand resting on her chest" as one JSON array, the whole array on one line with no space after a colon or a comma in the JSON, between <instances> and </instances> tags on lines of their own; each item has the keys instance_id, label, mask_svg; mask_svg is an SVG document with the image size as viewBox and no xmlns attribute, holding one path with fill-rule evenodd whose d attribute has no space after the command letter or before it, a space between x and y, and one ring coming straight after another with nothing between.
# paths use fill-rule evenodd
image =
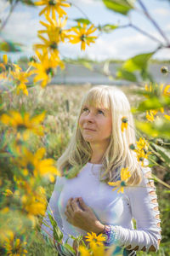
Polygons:
<instances>
[{"instance_id":1,"label":"woman's bare hand resting on her chest","mask_svg":"<svg viewBox=\"0 0 170 256\"><path fill-rule=\"evenodd\" d=\"M65 215L70 224L87 232L98 234L105 228L105 225L101 224L99 219L96 218L93 210L82 201L82 197L69 199Z\"/></svg>"}]
</instances>

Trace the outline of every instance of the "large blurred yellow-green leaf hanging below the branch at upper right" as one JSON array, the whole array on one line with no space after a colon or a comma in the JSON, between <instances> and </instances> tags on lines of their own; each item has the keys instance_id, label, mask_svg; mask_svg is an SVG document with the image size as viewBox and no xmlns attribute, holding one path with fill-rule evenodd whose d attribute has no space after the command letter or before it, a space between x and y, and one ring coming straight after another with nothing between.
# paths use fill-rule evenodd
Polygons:
<instances>
[{"instance_id":1,"label":"large blurred yellow-green leaf hanging below the branch at upper right","mask_svg":"<svg viewBox=\"0 0 170 256\"><path fill-rule=\"evenodd\" d=\"M150 57L154 53L155 53L155 51L147 53L147 54L135 55L135 56L133 56L133 58L125 61L122 67L125 68L129 72L146 69L148 61L150 60Z\"/></svg>"}]
</instances>

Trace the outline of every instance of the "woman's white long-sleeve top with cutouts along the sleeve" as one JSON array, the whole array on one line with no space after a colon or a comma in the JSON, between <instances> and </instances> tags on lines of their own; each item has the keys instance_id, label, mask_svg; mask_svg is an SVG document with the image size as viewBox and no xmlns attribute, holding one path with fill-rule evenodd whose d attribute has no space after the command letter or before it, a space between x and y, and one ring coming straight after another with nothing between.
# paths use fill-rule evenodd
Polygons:
<instances>
[{"instance_id":1,"label":"woman's white long-sleeve top with cutouts along the sleeve","mask_svg":"<svg viewBox=\"0 0 170 256\"><path fill-rule=\"evenodd\" d=\"M161 228L158 226L160 219L156 202L155 188L147 186L149 183L145 173L150 168L143 167L143 179L138 186L125 187L124 193L117 193L117 189L107 183L99 181L99 170L102 165L87 163L83 166L77 177L68 179L57 177L54 192L48 204L46 215L43 219L52 230L42 224L42 230L46 230L53 237L53 228L48 219L48 212L53 212L54 219L59 229L64 233L64 241L68 235L85 235L81 230L66 221L65 207L67 201L73 197L82 197L88 207L94 210L96 217L102 224L112 225L116 232L116 244L125 247L131 245L131 249L143 247L146 251L150 246L157 250L157 241L161 239ZM151 195L155 194L155 195ZM155 202L154 202L155 199ZM136 230L133 229L133 218L136 220ZM68 242L72 245L72 239Z\"/></svg>"}]
</instances>

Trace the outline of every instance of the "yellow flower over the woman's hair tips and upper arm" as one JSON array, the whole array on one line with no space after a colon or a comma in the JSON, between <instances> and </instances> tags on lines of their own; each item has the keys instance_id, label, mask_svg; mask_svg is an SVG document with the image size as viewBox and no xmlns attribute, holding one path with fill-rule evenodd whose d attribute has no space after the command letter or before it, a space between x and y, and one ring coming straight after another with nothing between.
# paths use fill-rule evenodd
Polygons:
<instances>
[{"instance_id":1,"label":"yellow flower over the woman's hair tips and upper arm","mask_svg":"<svg viewBox=\"0 0 170 256\"><path fill-rule=\"evenodd\" d=\"M123 193L124 187L126 186L127 179L131 176L130 172L127 171L128 168L122 168L121 170L121 180L118 180L116 182L109 182L108 184L110 186L114 186L116 188L112 189L113 191L117 190L117 193Z\"/></svg>"}]
</instances>

